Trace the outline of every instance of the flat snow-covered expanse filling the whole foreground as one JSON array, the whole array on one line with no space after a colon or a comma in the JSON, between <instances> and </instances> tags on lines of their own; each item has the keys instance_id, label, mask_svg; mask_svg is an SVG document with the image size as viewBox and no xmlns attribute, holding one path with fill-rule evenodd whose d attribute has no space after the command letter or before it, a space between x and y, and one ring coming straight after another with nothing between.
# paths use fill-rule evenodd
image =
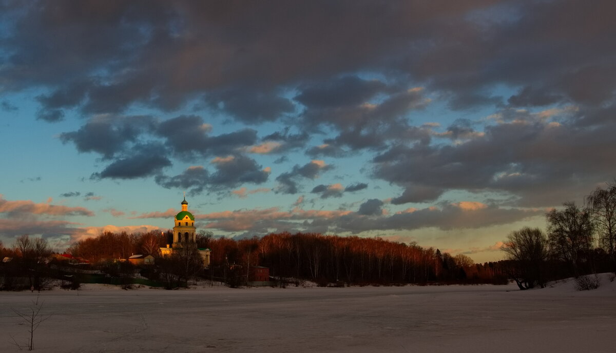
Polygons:
<instances>
[{"instance_id":1,"label":"flat snow-covered expanse filling the whole foreground","mask_svg":"<svg viewBox=\"0 0 616 353\"><path fill-rule=\"evenodd\" d=\"M36 293L0 293L0 352L17 352ZM616 281L579 292L508 286L193 288L41 293L38 352L615 352Z\"/></svg>"}]
</instances>

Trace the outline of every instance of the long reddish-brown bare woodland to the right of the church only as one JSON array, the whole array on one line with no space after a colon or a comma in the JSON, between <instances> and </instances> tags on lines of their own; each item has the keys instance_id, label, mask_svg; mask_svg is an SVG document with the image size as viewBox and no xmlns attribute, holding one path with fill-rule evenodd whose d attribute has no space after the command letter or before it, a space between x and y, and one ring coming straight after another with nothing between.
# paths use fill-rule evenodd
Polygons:
<instances>
[{"instance_id":1,"label":"long reddish-brown bare woodland to the right of the church only","mask_svg":"<svg viewBox=\"0 0 616 353\"><path fill-rule=\"evenodd\" d=\"M504 277L500 264L476 265L466 255L451 256L382 238L338 237L318 233L270 234L239 241L211 240L216 264L233 262L269 267L274 278L317 282L427 283Z\"/></svg>"}]
</instances>

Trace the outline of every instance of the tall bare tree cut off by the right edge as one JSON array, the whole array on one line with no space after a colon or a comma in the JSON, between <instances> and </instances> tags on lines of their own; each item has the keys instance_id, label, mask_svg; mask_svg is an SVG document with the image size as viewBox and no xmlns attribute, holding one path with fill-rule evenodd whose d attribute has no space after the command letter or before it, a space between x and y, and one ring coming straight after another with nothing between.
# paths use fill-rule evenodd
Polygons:
<instances>
[{"instance_id":1,"label":"tall bare tree cut off by the right edge","mask_svg":"<svg viewBox=\"0 0 616 353\"><path fill-rule=\"evenodd\" d=\"M586 197L594 230L601 245L612 262L616 273L616 182L607 184L607 189L597 188Z\"/></svg>"}]
</instances>

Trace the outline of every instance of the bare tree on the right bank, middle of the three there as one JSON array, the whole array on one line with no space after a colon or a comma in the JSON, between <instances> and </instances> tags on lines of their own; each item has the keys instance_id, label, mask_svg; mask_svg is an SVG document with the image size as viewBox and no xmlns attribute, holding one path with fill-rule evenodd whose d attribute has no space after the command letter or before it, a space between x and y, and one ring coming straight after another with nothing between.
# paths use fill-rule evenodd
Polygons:
<instances>
[{"instance_id":1,"label":"bare tree on the right bank, middle of the three there","mask_svg":"<svg viewBox=\"0 0 616 353\"><path fill-rule=\"evenodd\" d=\"M553 254L568 262L578 277L580 256L587 256L593 243L593 224L587 209L578 208L574 202L563 205L562 211L553 209L546 214L549 244Z\"/></svg>"}]
</instances>

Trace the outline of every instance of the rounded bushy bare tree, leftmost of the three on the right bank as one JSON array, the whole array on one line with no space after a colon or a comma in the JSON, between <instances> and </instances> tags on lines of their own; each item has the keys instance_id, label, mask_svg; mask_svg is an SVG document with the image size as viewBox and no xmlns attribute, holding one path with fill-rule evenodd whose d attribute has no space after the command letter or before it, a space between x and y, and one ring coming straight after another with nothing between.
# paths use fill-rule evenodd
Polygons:
<instances>
[{"instance_id":1,"label":"rounded bushy bare tree, leftmost of the three on the right bank","mask_svg":"<svg viewBox=\"0 0 616 353\"><path fill-rule=\"evenodd\" d=\"M524 227L509 233L501 248L507 258L516 264L511 274L520 289L545 285L545 263L549 256L548 237L538 228ZM519 281L517 277L522 278Z\"/></svg>"}]
</instances>

